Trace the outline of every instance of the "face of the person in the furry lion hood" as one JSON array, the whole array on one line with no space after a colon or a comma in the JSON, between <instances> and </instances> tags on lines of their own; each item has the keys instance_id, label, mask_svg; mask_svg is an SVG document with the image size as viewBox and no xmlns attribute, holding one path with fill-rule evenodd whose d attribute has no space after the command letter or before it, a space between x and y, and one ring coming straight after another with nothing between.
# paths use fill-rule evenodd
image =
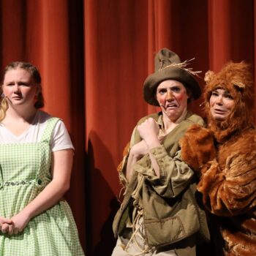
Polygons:
<instances>
[{"instance_id":1,"label":"face of the person in the furry lion hood","mask_svg":"<svg viewBox=\"0 0 256 256\"><path fill-rule=\"evenodd\" d=\"M217 121L224 121L233 108L234 99L229 91L216 89L211 92L209 103L211 116Z\"/></svg>"}]
</instances>

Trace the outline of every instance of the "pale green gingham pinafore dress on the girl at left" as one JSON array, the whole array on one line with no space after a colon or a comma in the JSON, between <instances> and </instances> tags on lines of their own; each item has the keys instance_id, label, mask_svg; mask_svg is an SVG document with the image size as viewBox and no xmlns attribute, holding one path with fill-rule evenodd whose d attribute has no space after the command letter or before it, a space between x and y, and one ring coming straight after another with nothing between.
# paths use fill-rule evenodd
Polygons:
<instances>
[{"instance_id":1,"label":"pale green gingham pinafore dress on the girl at left","mask_svg":"<svg viewBox=\"0 0 256 256\"><path fill-rule=\"evenodd\" d=\"M58 120L48 120L39 143L0 144L1 217L18 214L52 180L50 137ZM0 255L84 255L68 203L60 200L17 235L0 231Z\"/></svg>"}]
</instances>

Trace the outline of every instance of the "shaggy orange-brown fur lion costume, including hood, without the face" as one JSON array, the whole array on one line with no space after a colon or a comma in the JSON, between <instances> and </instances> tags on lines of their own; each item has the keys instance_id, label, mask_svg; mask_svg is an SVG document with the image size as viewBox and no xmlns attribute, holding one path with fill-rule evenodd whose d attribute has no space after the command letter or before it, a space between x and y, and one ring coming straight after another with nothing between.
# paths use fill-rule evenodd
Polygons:
<instances>
[{"instance_id":1,"label":"shaggy orange-brown fur lion costume, including hood, without the face","mask_svg":"<svg viewBox=\"0 0 256 256\"><path fill-rule=\"evenodd\" d=\"M193 126L181 140L181 157L200 173L198 191L214 217L223 255L256 255L256 131L252 125L253 83L248 64L230 62L206 73L204 99L208 128ZM234 107L215 121L209 99L225 89ZM216 233L212 238L217 238Z\"/></svg>"}]
</instances>

